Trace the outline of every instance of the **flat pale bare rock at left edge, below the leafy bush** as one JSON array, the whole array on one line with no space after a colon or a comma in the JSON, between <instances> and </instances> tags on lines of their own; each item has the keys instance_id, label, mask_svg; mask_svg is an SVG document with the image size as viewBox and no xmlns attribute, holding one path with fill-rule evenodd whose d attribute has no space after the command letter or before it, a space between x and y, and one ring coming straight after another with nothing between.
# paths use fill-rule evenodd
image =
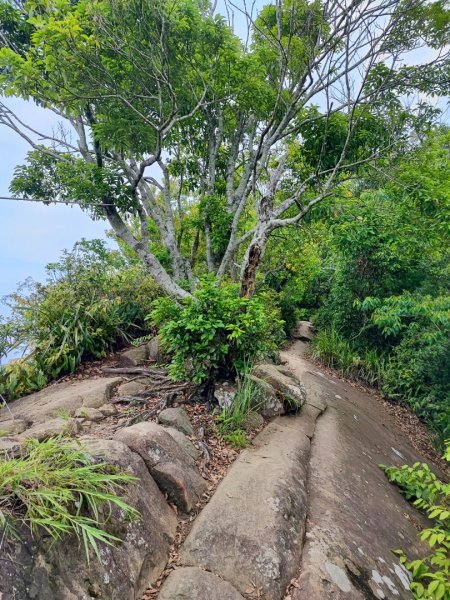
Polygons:
<instances>
[{"instance_id":1,"label":"flat pale bare rock at left edge, below the leafy bush","mask_svg":"<svg viewBox=\"0 0 450 600\"><path fill-rule=\"evenodd\" d=\"M0 430L11 417L35 424L44 423L61 413L71 416L81 407L98 408L108 402L121 381L120 377L102 377L48 386L0 409Z\"/></svg>"}]
</instances>

